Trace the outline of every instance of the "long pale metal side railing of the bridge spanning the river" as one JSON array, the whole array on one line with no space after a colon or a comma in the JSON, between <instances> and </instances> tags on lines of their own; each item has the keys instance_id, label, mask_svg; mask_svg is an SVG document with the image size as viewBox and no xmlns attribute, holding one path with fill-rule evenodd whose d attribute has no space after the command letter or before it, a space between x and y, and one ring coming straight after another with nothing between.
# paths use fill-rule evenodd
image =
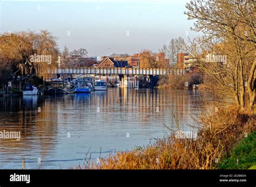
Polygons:
<instances>
[{"instance_id":1,"label":"long pale metal side railing of the bridge spanning the river","mask_svg":"<svg viewBox=\"0 0 256 187\"><path fill-rule=\"evenodd\" d=\"M184 69L161 68L55 68L53 74L116 74L116 75L173 75L185 74Z\"/></svg>"}]
</instances>

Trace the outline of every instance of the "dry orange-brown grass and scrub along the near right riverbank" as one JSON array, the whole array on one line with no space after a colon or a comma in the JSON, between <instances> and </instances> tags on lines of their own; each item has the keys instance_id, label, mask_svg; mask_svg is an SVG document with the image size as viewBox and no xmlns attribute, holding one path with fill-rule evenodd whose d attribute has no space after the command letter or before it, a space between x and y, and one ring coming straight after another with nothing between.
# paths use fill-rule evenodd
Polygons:
<instances>
[{"instance_id":1,"label":"dry orange-brown grass and scrub along the near right riverbank","mask_svg":"<svg viewBox=\"0 0 256 187\"><path fill-rule=\"evenodd\" d=\"M256 116L235 107L202 116L196 140L178 139L174 134L156 140L142 149L117 152L86 160L77 169L217 169L219 161L230 156L232 149L255 131Z\"/></svg>"}]
</instances>

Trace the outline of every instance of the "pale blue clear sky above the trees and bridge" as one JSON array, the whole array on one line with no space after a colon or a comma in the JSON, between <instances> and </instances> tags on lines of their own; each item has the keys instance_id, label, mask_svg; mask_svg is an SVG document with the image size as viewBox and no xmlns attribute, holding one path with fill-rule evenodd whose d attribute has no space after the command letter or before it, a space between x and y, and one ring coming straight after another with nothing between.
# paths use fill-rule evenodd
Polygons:
<instances>
[{"instance_id":1,"label":"pale blue clear sky above the trees and bridge","mask_svg":"<svg viewBox=\"0 0 256 187\"><path fill-rule=\"evenodd\" d=\"M172 38L196 37L184 15L188 0L0 0L0 33L48 30L60 51L89 56L156 53Z\"/></svg>"}]
</instances>

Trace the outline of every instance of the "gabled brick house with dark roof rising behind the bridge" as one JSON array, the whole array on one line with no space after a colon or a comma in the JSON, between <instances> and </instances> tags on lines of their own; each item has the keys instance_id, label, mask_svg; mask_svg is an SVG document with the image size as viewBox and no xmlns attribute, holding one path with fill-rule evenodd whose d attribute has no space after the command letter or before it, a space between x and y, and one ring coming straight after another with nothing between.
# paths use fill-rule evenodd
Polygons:
<instances>
[{"instance_id":1,"label":"gabled brick house with dark roof rising behind the bridge","mask_svg":"<svg viewBox=\"0 0 256 187\"><path fill-rule=\"evenodd\" d=\"M100 61L97 64L94 64L95 67L97 68L124 68L128 65L127 61L115 61L112 57L104 56L102 61Z\"/></svg>"}]
</instances>

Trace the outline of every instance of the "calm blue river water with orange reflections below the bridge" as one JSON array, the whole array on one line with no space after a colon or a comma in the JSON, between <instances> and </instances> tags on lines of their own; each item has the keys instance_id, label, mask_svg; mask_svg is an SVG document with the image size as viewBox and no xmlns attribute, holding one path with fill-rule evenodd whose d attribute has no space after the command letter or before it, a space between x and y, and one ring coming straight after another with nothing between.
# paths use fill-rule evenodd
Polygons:
<instances>
[{"instance_id":1,"label":"calm blue river water with orange reflections below the bridge","mask_svg":"<svg viewBox=\"0 0 256 187\"><path fill-rule=\"evenodd\" d=\"M53 96L0 97L0 169L68 169L118 150L147 145L180 130L198 113L203 93L191 90L109 88Z\"/></svg>"}]
</instances>

